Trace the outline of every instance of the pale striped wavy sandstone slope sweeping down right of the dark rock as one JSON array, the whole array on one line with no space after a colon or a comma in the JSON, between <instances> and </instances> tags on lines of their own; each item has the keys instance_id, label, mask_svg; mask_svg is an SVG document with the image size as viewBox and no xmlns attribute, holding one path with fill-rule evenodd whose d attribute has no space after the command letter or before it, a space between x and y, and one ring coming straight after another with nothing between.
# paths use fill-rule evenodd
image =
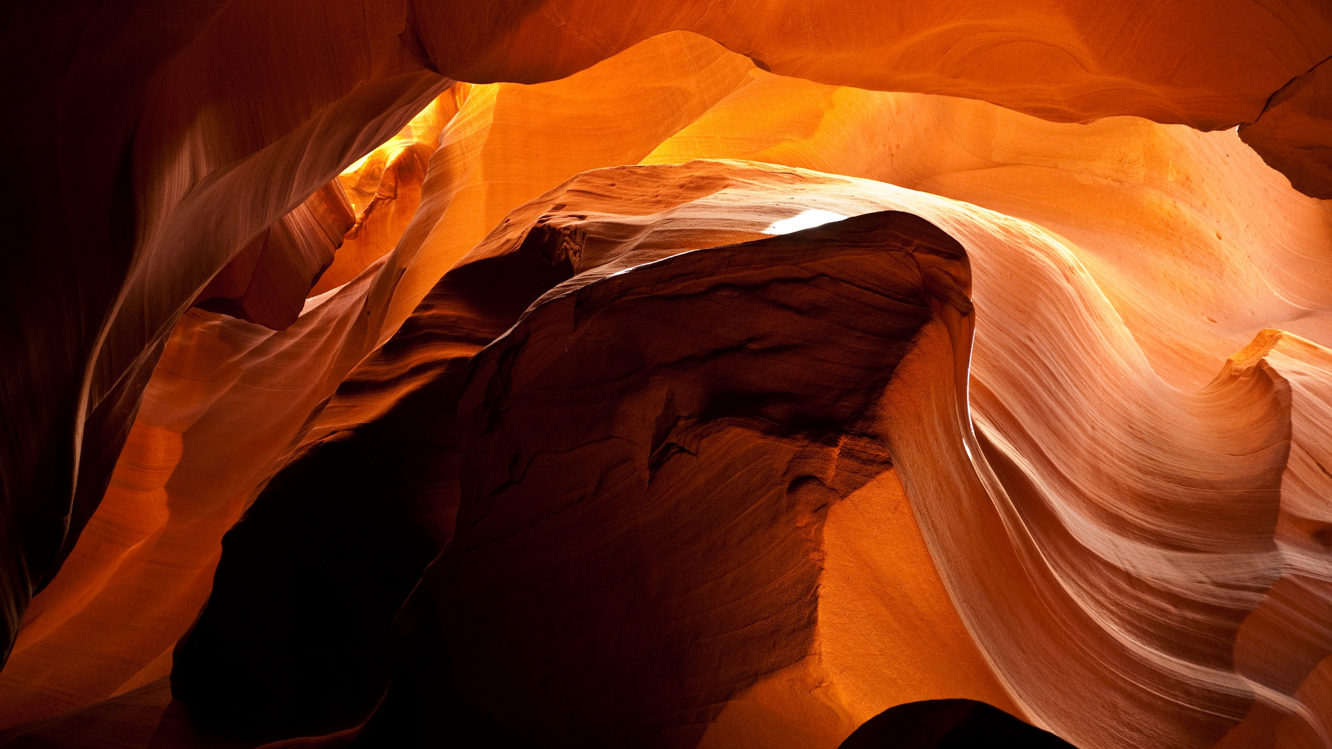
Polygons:
<instances>
[{"instance_id":1,"label":"pale striped wavy sandstone slope sweeping down right of the dark rock","mask_svg":"<svg viewBox=\"0 0 1332 749\"><path fill-rule=\"evenodd\" d=\"M633 181L623 171L617 172L607 172L614 176L601 180L614 181L617 189ZM598 196L610 191L582 188L579 192ZM791 185L783 185L781 195L795 203L791 208L802 208L799 199L793 200L794 192ZM835 189L832 192L836 195ZM840 207L868 200L866 196L872 192L862 184L855 199L840 199ZM747 213L737 205L743 204L737 196L722 195L725 191L711 196L711 200L698 200L701 205L691 208L706 215L703 205L711 203L718 208L726 205L731 217ZM1315 662L1309 662L1308 657L1304 657L1305 666L1292 662L1289 668L1300 673L1292 676L1284 693L1277 693L1253 684L1237 669L1232 656L1239 632L1260 616L1253 612L1272 605L1267 601L1273 582L1303 565L1311 565L1304 569L1325 569L1327 565L1325 549L1315 549L1312 558L1301 560L1283 552L1276 542L1285 486L1281 476L1289 470L1287 456L1292 422L1291 406L1281 394L1280 384L1227 372L1197 394L1184 396L1152 373L1118 316L1095 292L1090 275L1050 235L1030 225L1026 231L1016 231L1011 220L995 224L991 223L995 219L987 220L975 209L927 196L902 192L891 197L879 195L886 204L910 205L958 236L972 259L978 308L995 311L988 320L978 317L976 348L972 352L972 402L979 437L971 437L970 428L964 426L964 404L959 402L959 392L952 389L958 381L952 374L960 371L964 376L967 361L964 347L962 351L954 348L958 336L918 339L919 349L928 353L911 359L911 367L899 365L888 389L890 393L894 389L912 393L910 401L894 405L890 396L882 408L890 422L887 444L892 460L903 477L906 496L922 520L920 532L935 554L935 564L971 632L1003 682L1015 690L1019 704L1030 710L1034 720L1054 726L1062 736L1084 746L1205 746L1233 741L1235 736L1247 730L1261 730L1261 726L1255 729L1255 716L1264 710L1284 713L1281 720L1288 728L1283 732L1304 732L1315 737L1325 730L1321 728L1325 718L1317 714L1319 706L1297 704L1300 698L1296 696L1300 690L1316 689L1304 686L1309 680L1317 684ZM825 208L836 205L832 196L819 197L822 200L814 204ZM766 201L766 205L773 204L779 205L771 199ZM582 211L591 213L594 205L595 200ZM766 219L757 207L750 212L755 220ZM671 212L670 220L663 223L678 221L697 235L699 224L689 221L689 213ZM581 224L582 213L574 219ZM721 216L717 220L730 224L726 233L743 228L743 223L737 227ZM595 225L594 220L591 227ZM832 227L827 231L832 232ZM579 240L583 236L593 239L591 247L601 236L634 236L595 228L583 233L574 227L566 233ZM635 233L634 239L641 240L641 231ZM665 228L659 233L669 236ZM646 265L645 272L655 272L657 268L658 264ZM619 276L611 276L615 277ZM986 285L984 279L1008 283ZM1024 279L1026 283L1014 284L1012 279ZM538 305L530 315L537 315L539 309ZM577 313L562 317L583 319ZM651 317L663 319L659 315ZM675 320L675 324L681 320L665 319ZM1024 327L1019 327L1018 320L1024 320ZM1030 337L1034 320L1046 320L1048 327L1035 328L1036 337ZM1075 320L1078 323L1070 325ZM577 328L557 340L569 340L570 335L577 335ZM522 324L510 336L526 336ZM657 339L653 340L655 345ZM966 339L960 340L964 343ZM538 351L543 348L530 336L522 337L521 345ZM567 344L561 343L557 348L563 345ZM1309 351L1323 349L1312 347ZM627 355L626 359L634 360ZM1099 364L1094 367L1092 361ZM1107 363L1112 363L1108 371ZM481 377L482 364L476 367L477 377ZM1044 372L1042 377L1026 374L1038 369ZM1104 374L1087 376L1098 371ZM1111 388L1108 381L1119 385ZM1135 385L1126 390L1126 382ZM1034 390L1034 385L1038 389ZM595 390L595 386L582 384L579 390L585 386ZM474 384L473 388L482 389L482 385ZM557 390L545 388L541 392L550 398ZM1116 393L1118 402L1103 400L1108 392ZM1130 393L1132 400L1126 398ZM466 396L461 402L466 408ZM509 404L506 414L521 410L511 401L501 398L498 402ZM1019 404L1022 408L1016 408ZM962 418L959 406L963 408ZM541 413L535 406L531 409ZM634 414L639 409L629 408L622 413ZM1074 416L1079 413L1115 416L1110 421L1083 420ZM1237 418L1247 422L1239 424ZM496 426L493 421L486 424L492 429ZM626 430L633 433L631 429L609 433L618 438ZM546 432L549 426L507 430L505 434L510 440L522 440L517 434ZM582 434L587 436L586 432ZM962 449L966 442L971 444L970 450ZM940 449L940 445L956 448ZM1072 448L1074 452L1059 464L1043 462L1036 458L1047 452L1039 445L1064 445L1063 450ZM1078 457L1080 450L1086 450L1086 458ZM1176 454L1169 456L1169 450ZM567 450L551 452L565 454ZM647 452L651 454L651 450ZM1163 453L1169 457L1163 457ZM1134 460L1135 454L1143 457ZM1107 456L1131 462L1106 465ZM1244 460L1227 456L1244 456ZM513 465L522 466L526 461ZM1181 468L1188 465L1199 468ZM1224 473L1219 472L1221 466ZM509 472L513 470L510 466ZM1175 473L1177 470L1184 473ZM519 474L526 476L521 470ZM567 474L566 469L555 476ZM505 492L511 492L523 480L510 477L501 485ZM549 486L551 478L534 481ZM598 480L567 494L597 496L597 492L607 490L594 489L602 484L605 481ZM960 497L958 486L966 492ZM641 492L626 490L630 496ZM563 493L555 492L555 496ZM541 496L549 494L542 492ZM753 493L746 492L746 496ZM1135 497L1139 497L1136 504ZM464 517L466 504L464 494ZM529 504L503 505L496 501L492 508L488 500L482 506L489 518L501 512L494 508L513 506L511 512L525 512ZM581 509L574 505L569 512L578 513ZM561 514L543 514L545 522L565 528ZM1200 516L1208 521L1203 522ZM663 525L673 526L670 522ZM469 526L472 524L460 522L460 533ZM539 534L537 529L541 526L541 522L530 521L517 525L523 529L521 537L527 541L539 537L534 534ZM563 533L557 533L561 542L575 542L565 540L570 530L566 528ZM465 574L450 570L450 558L465 548L461 544L462 536L437 562L434 572L428 573L428 580ZM598 540L586 544L597 548ZM593 553L589 545L578 546L579 552ZM563 554L559 558L573 557ZM562 569L567 564L527 574L539 580L551 569ZM485 570L472 573L485 580L492 566L462 569ZM449 601L450 588L442 582L437 585L434 600ZM486 601L493 600L496 590L513 588L474 585L481 586L478 590L490 592ZM539 584L531 585L534 590L543 589ZM585 602L585 598L578 601ZM574 606L573 602L567 605ZM434 606L436 610L426 618L448 628L452 621L449 612L457 612L458 606L442 602ZM461 606L469 612L474 608ZM625 605L615 610L637 610L637 606ZM583 612L575 609L563 616L573 616L587 628L594 628L590 620L578 618ZM458 614L452 616L456 618ZM558 618L547 609L537 621ZM533 620L514 616L506 621ZM1309 622L1309 617L1287 621L1284 626L1291 629L1285 630L1285 637L1299 626L1311 626ZM1312 626L1313 632L1324 634L1309 632L1303 636L1305 640L1325 636L1325 624ZM485 633L469 630L469 637L461 640L424 640L437 650L440 642L476 642L485 637ZM502 641L510 642L511 637ZM659 642L661 637L654 641ZM578 652L595 661L599 650L597 645L589 645ZM450 660L448 653L432 650L432 656L448 665L428 669L429 673L454 673L450 669L466 668ZM469 660L466 654L453 657L462 658L464 664ZM1268 668L1289 657L1289 653L1269 653ZM1051 664L1059 666L1051 668ZM525 665L523 673L530 676L530 666ZM481 677L466 670L461 676L462 682L469 685L476 678ZM1086 685L1090 684L1100 689L1088 693ZM1143 684L1155 684L1155 688L1143 689ZM525 690L527 688L535 689L525 686ZM424 689L428 694L449 694L448 685ZM1076 705L1066 700L1072 689L1080 689L1082 698ZM523 693L502 689L494 701L509 705L513 700L533 700ZM595 701L591 696L589 698ZM771 704L773 697L767 700ZM791 714L791 710L774 713ZM773 720L771 713L769 720ZM727 716L722 712L714 725L723 726L726 722ZM574 736L583 736L571 730ZM1126 740L1131 733L1136 738Z\"/></svg>"}]
</instances>

